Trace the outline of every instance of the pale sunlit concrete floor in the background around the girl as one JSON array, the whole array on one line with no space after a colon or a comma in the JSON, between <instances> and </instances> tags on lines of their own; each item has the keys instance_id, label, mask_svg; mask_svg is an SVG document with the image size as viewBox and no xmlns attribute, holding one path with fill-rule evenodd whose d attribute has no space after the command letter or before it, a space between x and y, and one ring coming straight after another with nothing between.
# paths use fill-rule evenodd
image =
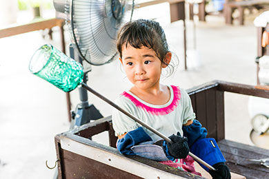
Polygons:
<instances>
[{"instance_id":1,"label":"pale sunlit concrete floor in the background around the girl","mask_svg":"<svg viewBox=\"0 0 269 179\"><path fill-rule=\"evenodd\" d=\"M159 6L158 6L159 7ZM157 7L156 7L157 8ZM160 7L159 7L160 8ZM167 8L167 5L162 5ZM167 10L166 9L166 10ZM151 9L152 10L152 9ZM179 56L177 72L163 78L166 84L190 88L215 79L235 83L256 84L257 29L253 18L246 25L226 25L223 17L207 17L197 21L196 57L189 57L192 69L183 70L183 23L169 23L168 12L152 11L150 17L136 12L136 18L157 18L161 22L170 48ZM139 17L140 15L140 17ZM257 14L256 14L257 15ZM237 22L236 22L237 23ZM193 24L187 21L188 49L193 48ZM54 41L41 36L42 32L30 32L0 39L0 178L52 178L56 160L54 136L69 128L66 94L60 89L30 74L28 63L35 50L45 43L61 49L59 30L54 29ZM66 43L69 43L66 32ZM200 65L197 65L200 64ZM119 61L93 66L88 85L114 100L130 87ZM79 103L77 89L70 93L72 109ZM109 116L112 107L89 94L89 101ZM250 116L248 96L226 95L226 138L250 143ZM107 143L105 134L94 138Z\"/></svg>"}]
</instances>

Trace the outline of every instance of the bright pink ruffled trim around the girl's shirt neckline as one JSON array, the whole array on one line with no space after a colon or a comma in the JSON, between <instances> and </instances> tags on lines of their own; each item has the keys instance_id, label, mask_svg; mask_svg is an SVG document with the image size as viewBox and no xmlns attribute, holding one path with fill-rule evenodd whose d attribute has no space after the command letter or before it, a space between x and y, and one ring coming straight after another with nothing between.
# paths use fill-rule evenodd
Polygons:
<instances>
[{"instance_id":1,"label":"bright pink ruffled trim around the girl's shirt neckline","mask_svg":"<svg viewBox=\"0 0 269 179\"><path fill-rule=\"evenodd\" d=\"M134 96L128 94L127 92L123 92L121 95L126 96L126 98L129 98L130 101L132 101L132 103L134 103L137 107L141 107L145 109L147 112L150 112L151 114L162 116L162 115L169 114L170 112L172 112L179 104L179 100L181 98L179 87L176 87L174 85L171 85L171 87L174 92L173 101L170 105L163 108L149 107L148 105L145 105L141 103L140 101L138 101Z\"/></svg>"}]
</instances>

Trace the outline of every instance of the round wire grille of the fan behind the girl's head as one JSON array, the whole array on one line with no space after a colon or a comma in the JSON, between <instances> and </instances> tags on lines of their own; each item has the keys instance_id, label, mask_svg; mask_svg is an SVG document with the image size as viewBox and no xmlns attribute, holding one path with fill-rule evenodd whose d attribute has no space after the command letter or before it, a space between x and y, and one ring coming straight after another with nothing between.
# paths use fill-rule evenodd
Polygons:
<instances>
[{"instance_id":1,"label":"round wire grille of the fan behind the girl's head","mask_svg":"<svg viewBox=\"0 0 269 179\"><path fill-rule=\"evenodd\" d=\"M82 59L92 65L109 63L117 55L115 38L123 23L130 21L133 1L114 0L68 0L66 1L66 22L71 41ZM115 18L112 4L124 4L121 17Z\"/></svg>"}]
</instances>

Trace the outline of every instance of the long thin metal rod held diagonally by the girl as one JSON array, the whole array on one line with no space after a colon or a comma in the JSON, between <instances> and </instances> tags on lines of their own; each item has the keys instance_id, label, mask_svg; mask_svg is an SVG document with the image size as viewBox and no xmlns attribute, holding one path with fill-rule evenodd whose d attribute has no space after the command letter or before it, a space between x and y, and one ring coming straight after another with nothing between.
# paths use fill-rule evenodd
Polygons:
<instances>
[{"instance_id":1,"label":"long thin metal rod held diagonally by the girl","mask_svg":"<svg viewBox=\"0 0 269 179\"><path fill-rule=\"evenodd\" d=\"M168 143L172 143L172 140L170 138L168 138L167 136L164 136L163 134L161 134L161 132L157 131L156 129L154 129L153 127L151 127L150 125L144 123L143 121L139 120L138 118L136 118L135 116L133 116L132 114L126 112L124 109L122 109L121 107L119 107L118 105L116 105L115 103L113 103L112 101L110 101L108 98L106 98L105 96L99 94L99 92L96 92L94 89L92 89L91 87L89 87L88 85L86 85L86 83L81 83L81 86L84 87L85 89L87 89L89 92L91 92L92 94L94 94L95 96L101 98L103 101L106 101L106 103L112 105L112 107L118 109L120 112L122 112L123 114L126 114L126 116L132 118L133 120L135 120L137 123L141 124L143 127L146 127L147 129L149 129L150 131L152 131L153 133L157 134L158 136L160 136L161 138L163 138L164 140L166 140L166 142ZM201 160L201 158L195 156L195 154L192 154L191 152L189 152L189 155L194 158L195 160L197 160L197 162L200 162L201 164L203 164L204 166L208 167L208 169L212 169L212 170L216 170L214 167L212 167L211 165L209 165L207 162Z\"/></svg>"}]
</instances>

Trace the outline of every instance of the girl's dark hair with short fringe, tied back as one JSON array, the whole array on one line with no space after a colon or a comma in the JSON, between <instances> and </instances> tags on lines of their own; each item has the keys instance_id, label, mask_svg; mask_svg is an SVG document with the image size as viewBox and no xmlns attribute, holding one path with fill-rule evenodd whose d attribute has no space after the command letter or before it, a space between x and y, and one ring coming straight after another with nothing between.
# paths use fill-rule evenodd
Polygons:
<instances>
[{"instance_id":1,"label":"girl's dark hair with short fringe, tied back","mask_svg":"<svg viewBox=\"0 0 269 179\"><path fill-rule=\"evenodd\" d=\"M161 63L166 64L164 59L170 51L166 41L166 34L164 34L163 28L158 22L138 19L126 23L119 30L117 36L117 50L120 57L122 57L121 48L124 43L126 48L128 44L134 48L141 48L142 46L150 48L156 52Z\"/></svg>"}]
</instances>

